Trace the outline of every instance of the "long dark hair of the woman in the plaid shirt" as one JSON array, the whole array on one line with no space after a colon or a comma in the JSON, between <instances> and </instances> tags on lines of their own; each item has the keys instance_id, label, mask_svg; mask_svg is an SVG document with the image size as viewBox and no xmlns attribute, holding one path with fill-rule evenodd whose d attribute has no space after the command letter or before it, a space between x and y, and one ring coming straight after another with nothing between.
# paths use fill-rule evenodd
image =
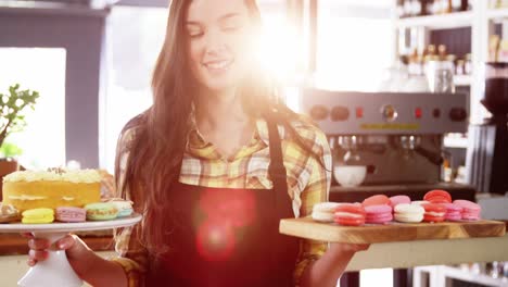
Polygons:
<instances>
[{"instance_id":1,"label":"long dark hair of the woman in the plaid shirt","mask_svg":"<svg viewBox=\"0 0 508 287\"><path fill-rule=\"evenodd\" d=\"M117 187L124 196L126 190L130 190L138 211L143 213L140 240L153 254L161 254L168 248L167 233L174 224L168 216L172 211L168 190L180 174L194 102L196 84L187 64L185 29L190 2L170 1L166 37L153 73L153 105L124 127L117 147ZM252 21L261 27L255 0L244 2ZM312 152L289 124L297 115L277 100L276 85L261 70L250 71L251 75L239 92L245 111L253 117L259 117L277 109L279 123L289 128L305 150ZM132 140L123 139L127 133L135 135ZM128 160L120 177L120 161L126 153Z\"/></svg>"}]
</instances>

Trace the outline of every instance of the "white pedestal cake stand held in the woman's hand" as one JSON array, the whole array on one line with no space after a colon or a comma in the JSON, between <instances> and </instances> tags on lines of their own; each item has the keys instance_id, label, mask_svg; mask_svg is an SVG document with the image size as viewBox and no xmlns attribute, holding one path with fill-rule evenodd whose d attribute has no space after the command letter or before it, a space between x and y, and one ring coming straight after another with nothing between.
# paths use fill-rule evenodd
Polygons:
<instances>
[{"instance_id":1,"label":"white pedestal cake stand held in the woman's hand","mask_svg":"<svg viewBox=\"0 0 508 287\"><path fill-rule=\"evenodd\" d=\"M50 224L0 224L0 233L31 233L36 238L47 238L51 244L68 233L104 230L118 227L129 227L141 221L141 215L112 221L82 223L50 223ZM68 263L65 250L49 250L46 261L38 262L17 282L21 287L80 287L84 282L76 275Z\"/></svg>"}]
</instances>

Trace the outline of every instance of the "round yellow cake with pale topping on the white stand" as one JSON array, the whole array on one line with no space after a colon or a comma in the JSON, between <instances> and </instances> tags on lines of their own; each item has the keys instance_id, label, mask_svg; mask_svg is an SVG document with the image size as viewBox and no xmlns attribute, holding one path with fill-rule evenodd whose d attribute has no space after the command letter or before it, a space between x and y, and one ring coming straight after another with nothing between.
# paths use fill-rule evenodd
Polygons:
<instances>
[{"instance_id":1,"label":"round yellow cake with pale topping on the white stand","mask_svg":"<svg viewBox=\"0 0 508 287\"><path fill-rule=\"evenodd\" d=\"M3 177L3 202L21 212L28 209L77 207L101 199L101 175L96 170L15 172Z\"/></svg>"}]
</instances>

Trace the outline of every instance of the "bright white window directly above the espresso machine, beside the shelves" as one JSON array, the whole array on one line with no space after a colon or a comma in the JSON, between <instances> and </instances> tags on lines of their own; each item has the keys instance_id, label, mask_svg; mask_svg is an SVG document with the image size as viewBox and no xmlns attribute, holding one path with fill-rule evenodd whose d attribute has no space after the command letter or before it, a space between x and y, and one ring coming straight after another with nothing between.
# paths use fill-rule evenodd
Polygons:
<instances>
[{"instance_id":1,"label":"bright white window directly above the espresso machine, beside the shelves","mask_svg":"<svg viewBox=\"0 0 508 287\"><path fill-rule=\"evenodd\" d=\"M394 59L389 1L321 0L316 86L376 91Z\"/></svg>"}]
</instances>

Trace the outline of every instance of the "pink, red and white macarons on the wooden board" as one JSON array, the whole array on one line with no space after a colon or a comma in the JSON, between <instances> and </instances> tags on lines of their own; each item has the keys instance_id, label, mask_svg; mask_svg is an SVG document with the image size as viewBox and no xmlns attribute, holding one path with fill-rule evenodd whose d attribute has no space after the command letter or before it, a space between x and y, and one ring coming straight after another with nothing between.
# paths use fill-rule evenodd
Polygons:
<instances>
[{"instance_id":1,"label":"pink, red and white macarons on the wooden board","mask_svg":"<svg viewBox=\"0 0 508 287\"><path fill-rule=\"evenodd\" d=\"M364 224L437 223L480 220L479 204L457 199L446 190L431 190L423 200L411 201L408 196L386 197L376 195L361 203L321 202L313 208L312 217L318 222L336 223L347 226Z\"/></svg>"}]
</instances>

